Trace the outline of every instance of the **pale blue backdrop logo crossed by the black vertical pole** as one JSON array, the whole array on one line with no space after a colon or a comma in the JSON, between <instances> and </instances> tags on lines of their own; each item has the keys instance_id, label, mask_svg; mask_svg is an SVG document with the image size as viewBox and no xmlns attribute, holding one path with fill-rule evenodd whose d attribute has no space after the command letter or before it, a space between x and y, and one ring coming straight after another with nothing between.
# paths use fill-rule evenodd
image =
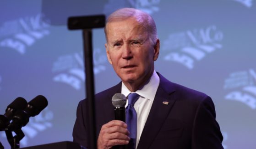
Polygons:
<instances>
[{"instance_id":1,"label":"pale blue backdrop logo crossed by the black vertical pole","mask_svg":"<svg viewBox=\"0 0 256 149\"><path fill-rule=\"evenodd\" d=\"M93 50L93 71L98 74L106 70L106 54L101 49ZM74 53L61 56L54 62L53 72L58 74L53 78L54 82L62 82L79 90L85 82L84 62L82 54Z\"/></svg>"}]
</instances>

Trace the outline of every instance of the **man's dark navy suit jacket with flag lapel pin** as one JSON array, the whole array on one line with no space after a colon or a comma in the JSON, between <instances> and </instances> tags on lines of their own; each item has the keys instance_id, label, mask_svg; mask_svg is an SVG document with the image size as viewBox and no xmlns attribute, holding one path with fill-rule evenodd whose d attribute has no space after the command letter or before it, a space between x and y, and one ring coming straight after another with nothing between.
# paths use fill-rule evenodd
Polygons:
<instances>
[{"instance_id":1,"label":"man's dark navy suit jacket with flag lapel pin","mask_svg":"<svg viewBox=\"0 0 256 149\"><path fill-rule=\"evenodd\" d=\"M202 92L169 82L162 75L137 149L223 149L223 136L215 120L212 99ZM111 99L121 92L121 82L95 95L96 135L114 120ZM168 104L163 104L163 102ZM87 147L87 100L77 107L74 142Z\"/></svg>"}]
</instances>

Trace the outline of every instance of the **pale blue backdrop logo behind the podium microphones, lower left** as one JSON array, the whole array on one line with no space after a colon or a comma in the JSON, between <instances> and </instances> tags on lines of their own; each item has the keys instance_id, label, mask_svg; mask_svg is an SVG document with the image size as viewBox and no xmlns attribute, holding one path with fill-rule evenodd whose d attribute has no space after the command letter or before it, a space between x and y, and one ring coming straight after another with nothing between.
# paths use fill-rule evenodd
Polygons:
<instances>
[{"instance_id":1,"label":"pale blue backdrop logo behind the podium microphones, lower left","mask_svg":"<svg viewBox=\"0 0 256 149\"><path fill-rule=\"evenodd\" d=\"M43 132L47 128L52 127L52 119L54 115L53 112L48 108L45 108L40 114L29 119L29 122L25 127L22 127L22 131L25 134L25 137L20 141L22 146L26 146L29 142L29 139L33 139L40 132ZM15 136L16 134L13 134ZM2 132L1 136L6 139L6 135Z\"/></svg>"}]
</instances>

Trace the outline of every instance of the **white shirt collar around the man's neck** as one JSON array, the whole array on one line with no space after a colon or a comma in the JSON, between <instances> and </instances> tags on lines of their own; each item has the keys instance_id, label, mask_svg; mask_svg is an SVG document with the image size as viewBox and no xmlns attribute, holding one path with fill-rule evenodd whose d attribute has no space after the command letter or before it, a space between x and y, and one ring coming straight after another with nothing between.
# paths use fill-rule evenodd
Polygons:
<instances>
[{"instance_id":1,"label":"white shirt collar around the man's neck","mask_svg":"<svg viewBox=\"0 0 256 149\"><path fill-rule=\"evenodd\" d=\"M158 76L157 72L154 71L152 76L150 77L149 82L146 85L144 85L144 87L142 87L142 89L137 90L136 93L144 98L147 98L147 99L153 101L155 98L155 95L157 93L159 83L160 83L159 76ZM131 91L125 86L125 84L123 82L122 82L121 93L124 94L125 97L127 97L131 93Z\"/></svg>"}]
</instances>

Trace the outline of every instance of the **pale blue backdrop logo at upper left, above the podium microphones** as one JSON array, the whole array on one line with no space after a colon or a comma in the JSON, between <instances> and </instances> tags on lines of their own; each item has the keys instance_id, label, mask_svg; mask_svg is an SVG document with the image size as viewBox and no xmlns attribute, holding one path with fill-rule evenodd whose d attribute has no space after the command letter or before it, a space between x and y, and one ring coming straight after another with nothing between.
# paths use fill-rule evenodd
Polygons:
<instances>
[{"instance_id":1,"label":"pale blue backdrop logo at upper left, above the podium microphones","mask_svg":"<svg viewBox=\"0 0 256 149\"><path fill-rule=\"evenodd\" d=\"M37 40L49 35L49 23L43 21L44 15L7 21L0 26L0 47L11 48L20 54L26 52Z\"/></svg>"}]
</instances>

